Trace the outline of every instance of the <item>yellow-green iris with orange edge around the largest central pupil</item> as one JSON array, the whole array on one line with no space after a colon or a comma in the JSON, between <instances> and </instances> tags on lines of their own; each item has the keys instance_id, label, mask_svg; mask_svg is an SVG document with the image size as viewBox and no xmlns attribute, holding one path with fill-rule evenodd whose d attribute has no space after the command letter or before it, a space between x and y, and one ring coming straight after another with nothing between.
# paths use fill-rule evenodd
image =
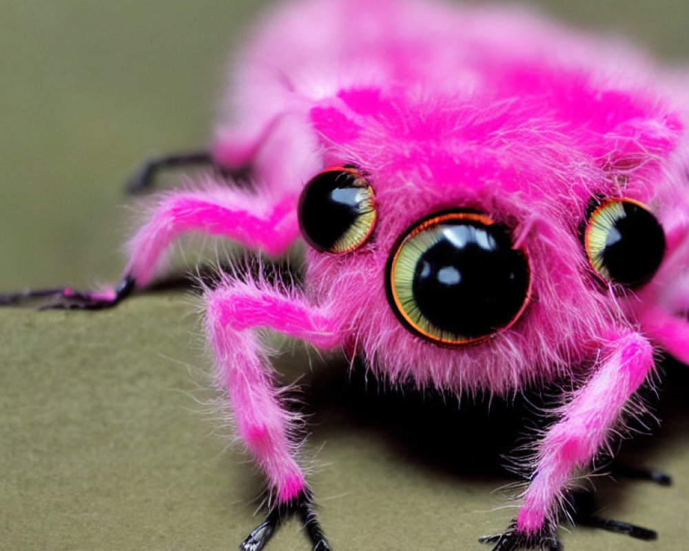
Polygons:
<instances>
[{"instance_id":1,"label":"yellow-green iris with orange edge around the largest central pupil","mask_svg":"<svg viewBox=\"0 0 689 551\"><path fill-rule=\"evenodd\" d=\"M427 247L435 243L433 234L426 230L437 227L448 220L470 220L471 222L479 222L486 226L495 224L495 220L490 216L475 212L450 212L424 220L404 237L395 250L391 260L390 292L397 311L417 333L436 344L465 346L466 344L475 344L488 340L495 333L478 337L464 337L442 331L423 317L411 294L411 281L413 280L416 262L419 258L417 253L419 251L421 253L424 252ZM527 292L526 295L528 297L530 293ZM520 317L527 303L528 298L524 301L524 306L515 315L513 321ZM507 329L512 323L502 329Z\"/></svg>"}]
</instances>

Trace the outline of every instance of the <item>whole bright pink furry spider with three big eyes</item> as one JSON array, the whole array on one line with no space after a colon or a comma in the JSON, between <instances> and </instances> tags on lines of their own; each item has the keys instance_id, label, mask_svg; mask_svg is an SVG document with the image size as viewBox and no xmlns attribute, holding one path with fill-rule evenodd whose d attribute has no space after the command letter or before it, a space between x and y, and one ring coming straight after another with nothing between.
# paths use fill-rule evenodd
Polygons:
<instances>
[{"instance_id":1,"label":"whole bright pink furry spider with three big eyes","mask_svg":"<svg viewBox=\"0 0 689 551\"><path fill-rule=\"evenodd\" d=\"M559 548L565 492L624 427L654 354L689 362L678 87L628 46L531 14L413 1L290 4L242 61L234 119L193 160L248 168L253 189L161 196L119 287L60 290L60 305L116 304L187 231L271 256L302 236L301 291L227 278L205 295L218 383L273 495L240 548L297 512L329 549L261 327L341 346L392 384L570 382L517 518L491 540Z\"/></svg>"}]
</instances>

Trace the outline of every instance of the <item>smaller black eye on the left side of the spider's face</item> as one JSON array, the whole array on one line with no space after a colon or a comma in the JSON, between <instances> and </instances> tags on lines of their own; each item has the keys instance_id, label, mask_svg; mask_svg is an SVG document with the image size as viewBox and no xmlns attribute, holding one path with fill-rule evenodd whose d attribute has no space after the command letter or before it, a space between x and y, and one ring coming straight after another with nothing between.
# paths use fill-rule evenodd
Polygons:
<instances>
[{"instance_id":1,"label":"smaller black eye on the left side of the spider's face","mask_svg":"<svg viewBox=\"0 0 689 551\"><path fill-rule=\"evenodd\" d=\"M353 251L369 238L375 224L373 188L356 169L329 168L302 191L299 225L305 240L318 251Z\"/></svg>"}]
</instances>

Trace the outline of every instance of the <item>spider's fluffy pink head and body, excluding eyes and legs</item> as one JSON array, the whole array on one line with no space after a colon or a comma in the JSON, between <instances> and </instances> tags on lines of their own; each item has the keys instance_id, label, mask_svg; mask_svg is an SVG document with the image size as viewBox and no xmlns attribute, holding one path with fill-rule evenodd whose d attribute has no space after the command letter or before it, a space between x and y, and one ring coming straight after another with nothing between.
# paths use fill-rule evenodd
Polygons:
<instances>
[{"instance_id":1,"label":"spider's fluffy pink head and body, excluding eyes and legs","mask_svg":"<svg viewBox=\"0 0 689 551\"><path fill-rule=\"evenodd\" d=\"M683 174L662 161L683 127L648 84L661 78L655 67L624 43L524 10L289 5L249 42L237 75L230 103L240 115L220 125L217 158L238 162L238 128L269 129L251 149L262 185L299 188L343 162L370 171L373 239L347 256L309 251L307 288L345 324L343 339L393 381L500 393L570 375L621 319L620 301L600 292L582 254L588 200L677 207ZM393 242L449 207L513 226L533 277L526 315L462 350L411 335L384 291Z\"/></svg>"}]
</instances>

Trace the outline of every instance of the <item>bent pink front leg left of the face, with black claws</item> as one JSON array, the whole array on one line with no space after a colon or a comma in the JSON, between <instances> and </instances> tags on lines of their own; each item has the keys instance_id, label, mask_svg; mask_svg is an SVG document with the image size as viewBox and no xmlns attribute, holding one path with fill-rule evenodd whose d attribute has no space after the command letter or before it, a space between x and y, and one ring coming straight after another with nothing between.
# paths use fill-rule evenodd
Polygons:
<instances>
[{"instance_id":1,"label":"bent pink front leg left of the face, with black claws","mask_svg":"<svg viewBox=\"0 0 689 551\"><path fill-rule=\"evenodd\" d=\"M206 322L218 385L227 391L238 435L265 472L272 495L265 521L247 536L240 549L260 551L282 520L296 513L313 551L329 550L304 472L295 459L296 444L291 438L294 418L280 404L271 366L254 329L267 327L328 350L340 344L338 324L325 308L250 282L210 291Z\"/></svg>"}]
</instances>

